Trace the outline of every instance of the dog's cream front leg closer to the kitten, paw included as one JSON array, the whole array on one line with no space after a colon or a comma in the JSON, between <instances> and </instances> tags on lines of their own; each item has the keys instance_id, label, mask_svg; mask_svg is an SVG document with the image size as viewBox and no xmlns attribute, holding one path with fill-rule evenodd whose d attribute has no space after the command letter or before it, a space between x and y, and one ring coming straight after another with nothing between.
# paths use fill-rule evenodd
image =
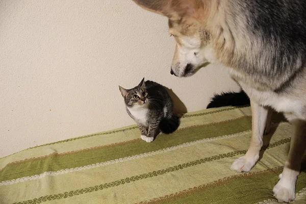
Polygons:
<instances>
[{"instance_id":1,"label":"dog's cream front leg closer to the kitten, paw included","mask_svg":"<svg viewBox=\"0 0 306 204\"><path fill-rule=\"evenodd\" d=\"M259 159L259 151L263 145L263 134L265 131L269 108L260 106L251 100L252 110L252 136L250 146L245 156L236 159L231 169L248 172Z\"/></svg>"}]
</instances>

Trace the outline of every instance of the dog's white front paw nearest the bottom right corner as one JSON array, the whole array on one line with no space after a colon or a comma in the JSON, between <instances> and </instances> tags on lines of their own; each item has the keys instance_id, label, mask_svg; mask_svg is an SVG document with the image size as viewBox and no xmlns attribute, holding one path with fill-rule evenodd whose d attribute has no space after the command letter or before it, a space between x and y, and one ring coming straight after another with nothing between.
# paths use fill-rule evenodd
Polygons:
<instances>
[{"instance_id":1,"label":"dog's white front paw nearest the bottom right corner","mask_svg":"<svg viewBox=\"0 0 306 204\"><path fill-rule=\"evenodd\" d=\"M279 176L282 177L282 174ZM290 202L295 198L295 187L284 185L281 180L273 188L274 197L278 202Z\"/></svg>"}]
</instances>

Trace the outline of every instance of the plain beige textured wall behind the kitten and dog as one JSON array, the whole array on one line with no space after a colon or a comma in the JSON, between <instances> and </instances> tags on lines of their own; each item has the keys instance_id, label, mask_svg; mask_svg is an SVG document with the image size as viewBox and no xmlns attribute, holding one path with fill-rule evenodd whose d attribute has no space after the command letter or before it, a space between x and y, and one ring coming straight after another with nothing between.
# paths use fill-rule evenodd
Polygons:
<instances>
[{"instance_id":1,"label":"plain beige textured wall behind the kitten and dog","mask_svg":"<svg viewBox=\"0 0 306 204\"><path fill-rule=\"evenodd\" d=\"M118 85L161 83L188 111L239 90L225 69L170 75L167 19L129 0L0 2L0 157L133 124Z\"/></svg>"}]
</instances>

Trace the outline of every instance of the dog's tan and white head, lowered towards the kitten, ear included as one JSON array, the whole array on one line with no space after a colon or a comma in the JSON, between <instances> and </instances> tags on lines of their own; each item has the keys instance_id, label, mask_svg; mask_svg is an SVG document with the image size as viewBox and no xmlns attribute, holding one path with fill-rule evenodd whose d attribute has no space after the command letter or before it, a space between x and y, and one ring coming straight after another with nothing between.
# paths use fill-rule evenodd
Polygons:
<instances>
[{"instance_id":1,"label":"dog's tan and white head, lowered towards the kitten, ear included","mask_svg":"<svg viewBox=\"0 0 306 204\"><path fill-rule=\"evenodd\" d=\"M171 74L188 77L202 67L210 35L201 28L205 15L201 0L133 0L142 8L169 18L169 34L176 41Z\"/></svg>"}]
</instances>

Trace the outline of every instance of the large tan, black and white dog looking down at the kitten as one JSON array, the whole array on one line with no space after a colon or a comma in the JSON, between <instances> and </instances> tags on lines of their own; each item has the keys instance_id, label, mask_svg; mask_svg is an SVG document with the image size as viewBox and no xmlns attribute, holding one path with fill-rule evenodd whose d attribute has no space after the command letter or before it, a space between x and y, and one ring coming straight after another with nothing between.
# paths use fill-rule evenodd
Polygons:
<instances>
[{"instance_id":1,"label":"large tan, black and white dog looking down at the kitten","mask_svg":"<svg viewBox=\"0 0 306 204\"><path fill-rule=\"evenodd\" d=\"M250 146L232 169L250 171L270 129L271 109L284 113L293 132L273 193L279 202L294 200L306 148L306 1L133 1L168 17L176 41L171 74L188 77L206 63L222 64L250 98Z\"/></svg>"}]
</instances>

